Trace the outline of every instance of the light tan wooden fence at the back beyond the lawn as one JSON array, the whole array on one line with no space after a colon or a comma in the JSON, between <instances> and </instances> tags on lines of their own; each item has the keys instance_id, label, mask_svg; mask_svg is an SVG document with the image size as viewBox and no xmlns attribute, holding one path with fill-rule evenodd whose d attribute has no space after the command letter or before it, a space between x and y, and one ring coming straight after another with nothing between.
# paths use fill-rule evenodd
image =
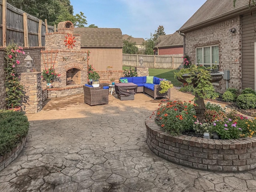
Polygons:
<instances>
[{"instance_id":1,"label":"light tan wooden fence at the back beyond the lawn","mask_svg":"<svg viewBox=\"0 0 256 192\"><path fill-rule=\"evenodd\" d=\"M160 69L180 69L183 66L182 54L180 55L137 55L123 54L123 66L140 66L140 58L143 66Z\"/></svg>"}]
</instances>

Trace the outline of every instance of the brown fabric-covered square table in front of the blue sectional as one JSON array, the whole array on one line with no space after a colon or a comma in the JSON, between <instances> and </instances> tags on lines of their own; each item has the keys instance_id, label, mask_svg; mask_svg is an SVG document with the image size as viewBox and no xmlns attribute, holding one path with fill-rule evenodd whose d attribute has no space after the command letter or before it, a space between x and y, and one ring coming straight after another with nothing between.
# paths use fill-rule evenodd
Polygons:
<instances>
[{"instance_id":1,"label":"brown fabric-covered square table in front of the blue sectional","mask_svg":"<svg viewBox=\"0 0 256 192\"><path fill-rule=\"evenodd\" d=\"M115 91L120 100L134 100L138 85L134 83L115 83Z\"/></svg>"}]
</instances>

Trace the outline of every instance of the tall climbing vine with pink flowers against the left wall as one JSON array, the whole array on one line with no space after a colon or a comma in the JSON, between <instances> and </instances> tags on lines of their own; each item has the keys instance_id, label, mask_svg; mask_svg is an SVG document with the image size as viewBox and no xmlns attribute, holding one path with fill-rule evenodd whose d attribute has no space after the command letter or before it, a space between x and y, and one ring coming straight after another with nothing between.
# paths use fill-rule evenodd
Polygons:
<instances>
[{"instance_id":1,"label":"tall climbing vine with pink flowers against the left wall","mask_svg":"<svg viewBox=\"0 0 256 192\"><path fill-rule=\"evenodd\" d=\"M20 76L16 72L16 65L20 64L20 61L17 60L17 54L25 54L21 46L18 46L14 42L9 44L6 48L6 55L4 56L6 60L6 71L5 78L5 87L6 87L6 101L7 108L12 110L20 111L21 99L23 94L24 87L20 84Z\"/></svg>"}]
</instances>

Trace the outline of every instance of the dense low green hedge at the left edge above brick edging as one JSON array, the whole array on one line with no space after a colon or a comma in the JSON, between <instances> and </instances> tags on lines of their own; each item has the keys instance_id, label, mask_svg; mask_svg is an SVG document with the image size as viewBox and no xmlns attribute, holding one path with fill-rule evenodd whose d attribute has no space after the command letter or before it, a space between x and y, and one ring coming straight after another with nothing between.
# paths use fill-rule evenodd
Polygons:
<instances>
[{"instance_id":1,"label":"dense low green hedge at the left edge above brick edging","mask_svg":"<svg viewBox=\"0 0 256 192\"><path fill-rule=\"evenodd\" d=\"M10 152L28 134L28 118L22 112L0 110L0 156Z\"/></svg>"}]
</instances>

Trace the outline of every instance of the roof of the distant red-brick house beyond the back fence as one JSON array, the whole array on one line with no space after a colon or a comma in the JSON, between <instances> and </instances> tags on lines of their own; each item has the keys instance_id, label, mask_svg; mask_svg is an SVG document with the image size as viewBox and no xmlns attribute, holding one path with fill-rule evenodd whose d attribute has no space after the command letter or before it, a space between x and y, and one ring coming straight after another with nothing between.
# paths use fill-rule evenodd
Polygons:
<instances>
[{"instance_id":1,"label":"roof of the distant red-brick house beyond the back fence","mask_svg":"<svg viewBox=\"0 0 256 192\"><path fill-rule=\"evenodd\" d=\"M183 37L175 32L170 35L160 35L157 38L155 47L183 46Z\"/></svg>"}]
</instances>

